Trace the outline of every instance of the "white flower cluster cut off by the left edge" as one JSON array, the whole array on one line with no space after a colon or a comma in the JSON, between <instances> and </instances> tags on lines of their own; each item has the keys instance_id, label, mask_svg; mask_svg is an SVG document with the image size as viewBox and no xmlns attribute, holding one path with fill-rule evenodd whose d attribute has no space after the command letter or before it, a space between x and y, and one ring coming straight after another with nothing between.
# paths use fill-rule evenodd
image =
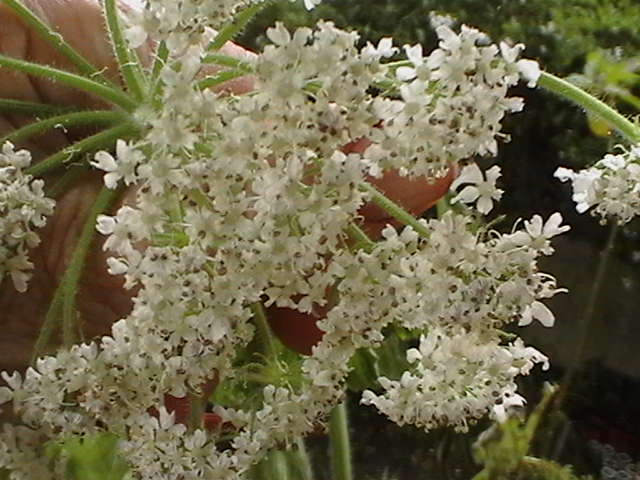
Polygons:
<instances>
[{"instance_id":1,"label":"white flower cluster cut off by the left edge","mask_svg":"<svg viewBox=\"0 0 640 480\"><path fill-rule=\"evenodd\" d=\"M15 151L10 142L0 150L0 283L11 277L19 292L27 289L33 264L29 249L40 243L36 229L53 213L55 202L45 197L42 180L25 174L31 163L26 150Z\"/></svg>"}]
</instances>

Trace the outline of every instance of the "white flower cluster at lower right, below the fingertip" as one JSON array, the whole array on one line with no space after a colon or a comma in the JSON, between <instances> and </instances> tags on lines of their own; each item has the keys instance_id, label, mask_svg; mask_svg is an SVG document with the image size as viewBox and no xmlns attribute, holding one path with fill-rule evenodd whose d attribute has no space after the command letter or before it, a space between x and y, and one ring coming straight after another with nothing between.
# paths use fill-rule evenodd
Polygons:
<instances>
[{"instance_id":1,"label":"white flower cluster at lower right, below the fingertip","mask_svg":"<svg viewBox=\"0 0 640 480\"><path fill-rule=\"evenodd\" d=\"M536 258L551 254L549 239L568 230L561 220L556 213L543 224L535 216L524 230L484 240L469 218L449 213L426 223L428 239L388 227L372 252L344 265L340 302L320 323L327 333L306 365L315 383L335 377L350 348L376 346L395 323L428 332L420 349L408 352L414 371L397 381L381 378L385 393L365 392L364 403L427 429L465 429L489 411L502 416L519 399L515 376L546 357L520 340L502 345L499 329L532 318L553 324L540 300L562 290L538 271Z\"/></svg>"}]
</instances>

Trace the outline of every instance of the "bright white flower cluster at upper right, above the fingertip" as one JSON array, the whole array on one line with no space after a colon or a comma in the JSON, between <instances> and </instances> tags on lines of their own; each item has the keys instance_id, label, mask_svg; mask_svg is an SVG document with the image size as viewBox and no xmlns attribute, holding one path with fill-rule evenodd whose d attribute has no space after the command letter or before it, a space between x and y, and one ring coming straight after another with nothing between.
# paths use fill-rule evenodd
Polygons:
<instances>
[{"instance_id":1,"label":"bright white flower cluster at upper right, above the fingertip","mask_svg":"<svg viewBox=\"0 0 640 480\"><path fill-rule=\"evenodd\" d=\"M502 118L522 109L522 99L507 97L520 78L522 45L489 45L464 25L460 34L445 25L436 33L440 48L427 57L420 45L405 46L411 66L396 71L401 100L373 102L383 125L367 154L383 168L434 176L449 162L495 155Z\"/></svg>"}]
</instances>

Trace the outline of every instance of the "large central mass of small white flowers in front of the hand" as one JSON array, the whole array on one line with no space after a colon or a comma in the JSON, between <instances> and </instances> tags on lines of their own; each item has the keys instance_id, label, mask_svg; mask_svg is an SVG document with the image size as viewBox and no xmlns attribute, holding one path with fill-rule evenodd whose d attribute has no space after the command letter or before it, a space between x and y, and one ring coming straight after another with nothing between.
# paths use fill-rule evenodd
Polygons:
<instances>
[{"instance_id":1,"label":"large central mass of small white flowers in front of the hand","mask_svg":"<svg viewBox=\"0 0 640 480\"><path fill-rule=\"evenodd\" d=\"M367 175L436 176L495 152L501 119L522 106L506 97L521 47L484 45L476 30L441 26L439 49L423 58L420 47L406 47L411 66L396 70L383 63L397 51L390 39L359 50L356 33L331 23L295 32L277 25L268 31L273 45L252 62L259 89L196 88L206 51L191 36L210 39L199 27L212 25L200 22L237 4L149 2L145 35L175 33L180 48L163 67L161 101L136 113L145 136L93 162L108 187L137 186L135 205L98 219L114 254L110 271L137 289L133 310L111 336L40 359L24 378L4 374L0 402L47 435L109 429L123 439L136 478L222 480L311 431L343 395L353 354L378 346L390 324L426 332L406 377L406 392L424 400L419 410L400 399L402 381L382 380L385 393L365 396L396 421L462 428L465 418L516 402L514 376L545 359L517 341L502 345L497 329L553 322L541 300L559 290L536 259L566 230L559 215L500 235L448 214L424 222L429 238L387 228L360 251L344 232L359 220ZM372 93L381 87L392 97ZM363 137L374 141L369 149L343 152ZM484 190L475 197L487 195L479 205L497 200ZM158 419L149 413L164 394L197 391L214 371L222 381L236 374L253 335L252 304L309 312L327 303L330 288L337 303L319 322L326 334L303 363L303 385L267 386L256 411L221 411L234 426L227 443L216 432L186 432L162 408ZM463 346L459 369L443 363L427 374ZM460 377L433 392L446 375ZM488 377L494 383L480 385ZM467 381L474 389L465 393Z\"/></svg>"}]
</instances>

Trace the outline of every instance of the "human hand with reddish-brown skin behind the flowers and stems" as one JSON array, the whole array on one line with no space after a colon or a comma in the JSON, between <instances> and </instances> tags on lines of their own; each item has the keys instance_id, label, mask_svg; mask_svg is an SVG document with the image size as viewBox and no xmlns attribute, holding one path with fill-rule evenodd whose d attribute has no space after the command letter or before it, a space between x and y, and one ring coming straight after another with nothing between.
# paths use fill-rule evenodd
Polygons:
<instances>
[{"instance_id":1,"label":"human hand with reddish-brown skin behind the flowers and stems","mask_svg":"<svg viewBox=\"0 0 640 480\"><path fill-rule=\"evenodd\" d=\"M97 0L23 0L85 58L114 81L119 81L116 62L107 41L105 22ZM120 5L123 10L128 7ZM139 54L143 62L151 57L151 45L143 45ZM227 44L225 53L250 56L252 53ZM36 32L23 24L4 5L0 4L0 53L32 62L73 70L70 62L42 40ZM241 94L253 89L250 78L237 79L226 84L224 90ZM64 85L0 68L0 97L78 107L101 107L103 104L87 94ZM19 115L0 114L0 136L11 132L33 119ZM86 132L54 130L31 141L17 145L32 152L34 161L55 152L77 140ZM364 139L354 139L345 146L350 151L363 151L368 146ZM426 179L408 180L389 172L376 185L390 198L414 214L430 207L447 190L454 173L435 182ZM45 178L50 182L51 178ZM75 248L79 233L93 199L102 187L99 172L87 173L66 193L57 199L54 214L39 231L41 244L30 252L34 274L25 293L18 293L10 279L0 284L0 371L22 370L29 362L33 345L44 320L56 286L65 272ZM124 193L113 206L113 211L125 202L134 201L134 190ZM377 236L389 222L389 217L372 205L361 211L363 228ZM124 317L132 306L134 292L123 288L121 277L107 272L102 245L104 238L97 235L92 245L77 298L78 311L86 338L104 335L116 320ZM275 315L278 313L276 312Z\"/></svg>"}]
</instances>

